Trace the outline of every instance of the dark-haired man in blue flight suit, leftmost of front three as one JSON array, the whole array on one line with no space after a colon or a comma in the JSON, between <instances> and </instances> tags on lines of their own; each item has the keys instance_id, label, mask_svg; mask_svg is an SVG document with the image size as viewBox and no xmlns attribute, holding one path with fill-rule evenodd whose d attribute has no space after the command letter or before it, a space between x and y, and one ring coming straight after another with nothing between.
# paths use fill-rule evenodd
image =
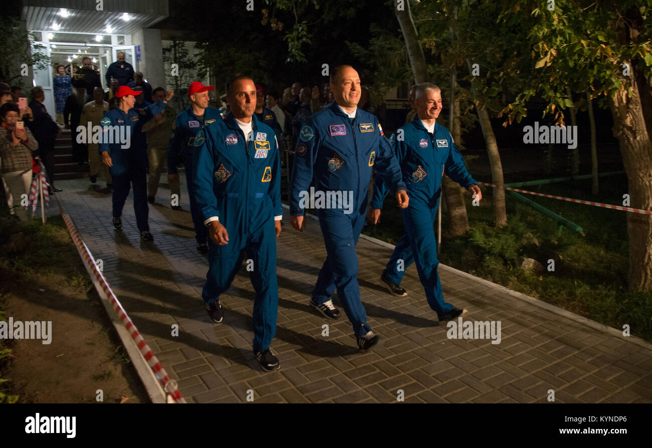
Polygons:
<instances>
[{"instance_id":1,"label":"dark-haired man in blue flight suit, leftmost of front three","mask_svg":"<svg viewBox=\"0 0 652 448\"><path fill-rule=\"evenodd\" d=\"M272 128L254 117L251 77L232 76L226 100L231 107L226 119L206 124L195 137L195 197L209 227L209 270L201 296L213 322L222 322L220 294L231 286L244 250L256 290L254 356L272 371L280 367L270 348L278 311L275 238L283 215L278 143Z\"/></svg>"}]
</instances>

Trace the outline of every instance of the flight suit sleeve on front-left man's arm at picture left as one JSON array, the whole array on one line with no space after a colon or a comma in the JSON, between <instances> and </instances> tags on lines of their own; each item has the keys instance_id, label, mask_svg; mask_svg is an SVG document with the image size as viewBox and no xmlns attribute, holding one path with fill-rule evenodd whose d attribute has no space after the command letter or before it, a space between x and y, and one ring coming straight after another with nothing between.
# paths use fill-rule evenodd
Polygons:
<instances>
[{"instance_id":1,"label":"flight suit sleeve on front-left man's arm at picture left","mask_svg":"<svg viewBox=\"0 0 652 448\"><path fill-rule=\"evenodd\" d=\"M213 147L215 141L212 135L211 132L207 132L207 128L200 130L195 137L195 148L192 154L194 166L192 188L195 190L195 200L201 210L203 221L210 217L220 218L217 197L213 191L213 171L215 169Z\"/></svg>"}]
</instances>

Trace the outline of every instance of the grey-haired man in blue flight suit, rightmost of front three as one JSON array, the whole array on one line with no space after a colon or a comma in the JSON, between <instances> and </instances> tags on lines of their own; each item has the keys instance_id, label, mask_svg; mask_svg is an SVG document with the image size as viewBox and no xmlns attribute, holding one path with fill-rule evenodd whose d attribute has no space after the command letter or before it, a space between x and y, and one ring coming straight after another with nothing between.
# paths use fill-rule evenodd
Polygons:
<instances>
[{"instance_id":1,"label":"grey-haired man in blue flight suit, rightmost of front three","mask_svg":"<svg viewBox=\"0 0 652 448\"><path fill-rule=\"evenodd\" d=\"M416 262L428 305L436 311L439 321L452 320L466 310L458 309L443 299L437 274L439 260L434 221L441 195L441 176L446 173L460 186L477 195L478 200L482 199L482 192L466 171L464 158L455 147L451 133L436 123L441 111L439 87L431 83L417 86L415 104L417 115L410 123L398 128L396 135L392 135L410 201L409 208L402 210L405 231L394 248L381 280L387 283L392 294L406 296L406 291L400 287L401 279L405 268ZM377 178L368 212L368 220L372 224L378 222L385 195L387 184L382 178Z\"/></svg>"}]
</instances>

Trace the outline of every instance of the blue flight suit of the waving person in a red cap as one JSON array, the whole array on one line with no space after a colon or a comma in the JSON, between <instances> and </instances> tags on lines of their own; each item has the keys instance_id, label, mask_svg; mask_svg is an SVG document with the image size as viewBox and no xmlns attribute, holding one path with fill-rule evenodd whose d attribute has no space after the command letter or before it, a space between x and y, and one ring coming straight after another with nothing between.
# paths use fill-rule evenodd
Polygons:
<instances>
[{"instance_id":1,"label":"blue flight suit of the waving person in a red cap","mask_svg":"<svg viewBox=\"0 0 652 448\"><path fill-rule=\"evenodd\" d=\"M126 197L129 195L130 184L134 186L134 212L136 213L136 225L138 231L149 231L147 217L149 208L147 206L147 143L145 134L142 132L143 124L149 119L161 113L166 103L158 100L155 104L147 106L147 113L141 114L132 107L128 113L116 107L113 110L104 112L100 124L104 127L102 141L97 147L97 152L108 151L111 156L110 167L111 179L113 182L113 217L121 217L125 206ZM120 141L108 142L108 133L111 132L106 126L118 126L125 128L130 136L128 148L121 148ZM126 134L125 134L126 135Z\"/></svg>"}]
</instances>

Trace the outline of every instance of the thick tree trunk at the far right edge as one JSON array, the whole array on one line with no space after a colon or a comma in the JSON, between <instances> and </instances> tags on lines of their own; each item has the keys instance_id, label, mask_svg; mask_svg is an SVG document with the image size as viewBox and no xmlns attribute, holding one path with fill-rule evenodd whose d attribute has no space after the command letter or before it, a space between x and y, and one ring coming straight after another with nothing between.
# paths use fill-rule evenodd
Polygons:
<instances>
[{"instance_id":1,"label":"thick tree trunk at the far right edge","mask_svg":"<svg viewBox=\"0 0 652 448\"><path fill-rule=\"evenodd\" d=\"M631 96L627 87L632 89ZM609 98L609 106L627 171L630 206L652 210L652 151L636 81L626 82L623 90ZM652 216L628 212L627 234L629 290L652 290Z\"/></svg>"}]
</instances>

